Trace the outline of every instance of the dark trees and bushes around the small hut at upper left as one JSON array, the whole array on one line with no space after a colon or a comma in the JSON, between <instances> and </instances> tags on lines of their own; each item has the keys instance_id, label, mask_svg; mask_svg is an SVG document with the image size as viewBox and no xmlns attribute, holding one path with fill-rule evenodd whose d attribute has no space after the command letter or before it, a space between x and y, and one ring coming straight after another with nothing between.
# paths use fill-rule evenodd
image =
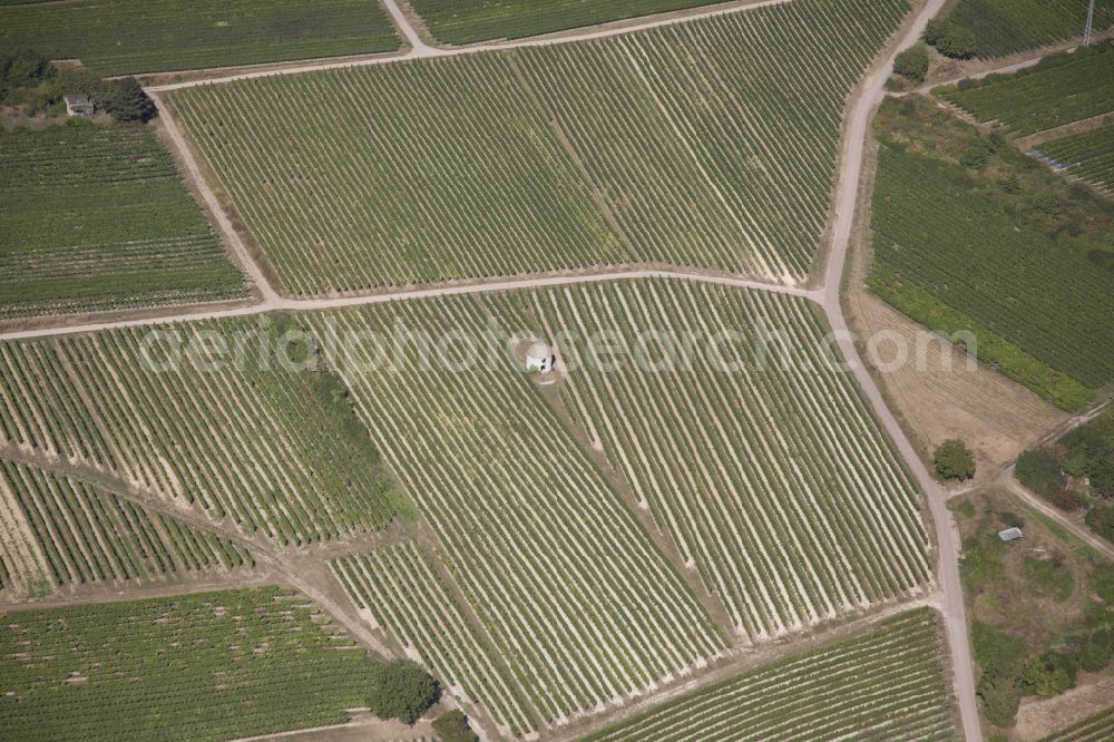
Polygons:
<instances>
[{"instance_id":1,"label":"dark trees and bushes around the small hut at upper left","mask_svg":"<svg viewBox=\"0 0 1114 742\"><path fill-rule=\"evenodd\" d=\"M70 92L88 95L97 110L117 121L146 123L158 114L133 77L102 80L81 67L56 66L31 49L0 52L0 105L18 106L32 116L62 114L62 98Z\"/></svg>"}]
</instances>

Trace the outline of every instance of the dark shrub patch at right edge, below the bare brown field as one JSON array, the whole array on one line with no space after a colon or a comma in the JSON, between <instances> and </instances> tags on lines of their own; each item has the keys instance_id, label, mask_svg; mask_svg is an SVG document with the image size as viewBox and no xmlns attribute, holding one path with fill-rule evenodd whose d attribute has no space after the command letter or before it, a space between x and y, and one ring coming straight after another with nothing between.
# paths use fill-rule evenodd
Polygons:
<instances>
[{"instance_id":1,"label":"dark shrub patch at right edge, below the bare brown field","mask_svg":"<svg viewBox=\"0 0 1114 742\"><path fill-rule=\"evenodd\" d=\"M1022 453L1017 479L1061 510L1086 508L1087 526L1114 541L1114 411Z\"/></svg>"}]
</instances>

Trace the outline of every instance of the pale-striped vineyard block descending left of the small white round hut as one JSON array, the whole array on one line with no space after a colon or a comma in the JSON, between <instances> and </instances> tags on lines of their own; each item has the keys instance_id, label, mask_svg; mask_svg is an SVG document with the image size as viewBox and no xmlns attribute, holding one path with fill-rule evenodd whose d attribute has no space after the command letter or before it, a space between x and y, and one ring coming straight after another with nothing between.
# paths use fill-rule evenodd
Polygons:
<instances>
[{"instance_id":1,"label":"pale-striped vineyard block descending left of the small white round hut","mask_svg":"<svg viewBox=\"0 0 1114 742\"><path fill-rule=\"evenodd\" d=\"M488 314L482 300L441 296L305 319L325 338L397 338L401 325L441 339L486 336ZM359 343L338 372L543 723L622 704L726 648L525 373L487 360L427 368L417 341L391 363L377 357Z\"/></svg>"}]
</instances>

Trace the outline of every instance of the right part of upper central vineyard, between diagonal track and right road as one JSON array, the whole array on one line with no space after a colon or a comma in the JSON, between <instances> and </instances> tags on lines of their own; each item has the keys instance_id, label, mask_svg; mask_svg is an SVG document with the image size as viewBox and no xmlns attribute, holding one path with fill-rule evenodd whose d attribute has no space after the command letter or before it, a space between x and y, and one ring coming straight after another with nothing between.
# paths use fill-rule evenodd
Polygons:
<instances>
[{"instance_id":1,"label":"right part of upper central vineyard, between diagonal track and right road","mask_svg":"<svg viewBox=\"0 0 1114 742\"><path fill-rule=\"evenodd\" d=\"M519 59L638 260L794 283L848 95L908 9L798 0Z\"/></svg>"}]
</instances>

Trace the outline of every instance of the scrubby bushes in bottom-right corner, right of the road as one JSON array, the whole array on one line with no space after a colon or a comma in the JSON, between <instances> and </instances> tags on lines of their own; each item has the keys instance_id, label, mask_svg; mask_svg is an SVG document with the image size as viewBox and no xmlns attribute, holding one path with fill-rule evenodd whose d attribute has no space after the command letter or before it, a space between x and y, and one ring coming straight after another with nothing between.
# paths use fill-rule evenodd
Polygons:
<instances>
[{"instance_id":1,"label":"scrubby bushes in bottom-right corner, right of the road","mask_svg":"<svg viewBox=\"0 0 1114 742\"><path fill-rule=\"evenodd\" d=\"M1075 687L1078 671L1100 672L1110 665L1114 658L1114 568L1096 567L1092 586L1102 603L1088 603L1083 627L1055 648L1029 652L1007 632L973 624L971 645L980 671L976 693L991 723L1009 726L1023 696L1058 695Z\"/></svg>"}]
</instances>

